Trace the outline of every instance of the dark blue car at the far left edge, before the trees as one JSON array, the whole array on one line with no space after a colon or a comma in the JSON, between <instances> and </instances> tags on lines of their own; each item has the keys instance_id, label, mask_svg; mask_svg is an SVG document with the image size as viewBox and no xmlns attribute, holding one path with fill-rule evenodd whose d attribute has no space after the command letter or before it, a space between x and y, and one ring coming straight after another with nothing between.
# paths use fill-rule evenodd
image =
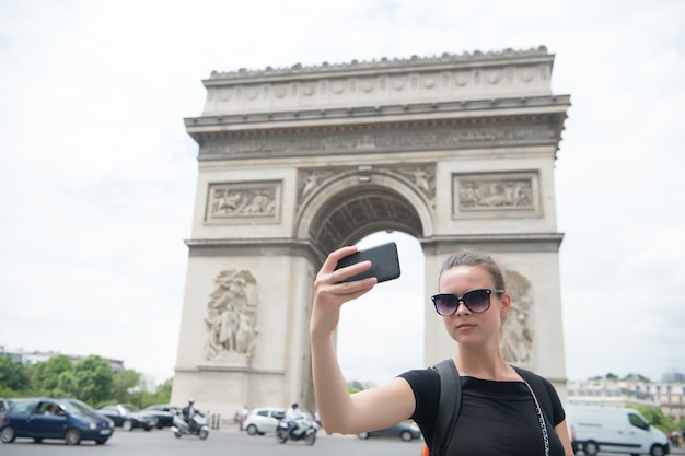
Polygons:
<instances>
[{"instance_id":1,"label":"dark blue car at the far left edge, before the trees","mask_svg":"<svg viewBox=\"0 0 685 456\"><path fill-rule=\"evenodd\" d=\"M68 445L95 441L102 445L112 436L114 423L77 399L32 398L14 400L0 414L0 441L16 437L63 440Z\"/></svg>"}]
</instances>

